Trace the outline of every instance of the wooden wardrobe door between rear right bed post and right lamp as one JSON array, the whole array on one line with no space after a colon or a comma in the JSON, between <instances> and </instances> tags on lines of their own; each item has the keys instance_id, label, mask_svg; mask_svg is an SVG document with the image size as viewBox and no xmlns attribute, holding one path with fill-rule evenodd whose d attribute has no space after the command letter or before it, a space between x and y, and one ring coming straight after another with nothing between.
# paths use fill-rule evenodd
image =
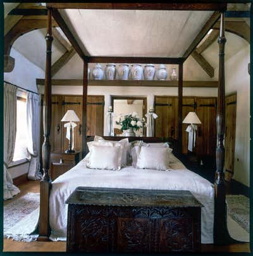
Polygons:
<instances>
[{"instance_id":1,"label":"wooden wardrobe door between rear right bed post and right lamp","mask_svg":"<svg viewBox=\"0 0 253 256\"><path fill-rule=\"evenodd\" d=\"M183 98L182 118L184 119L189 112L194 112L194 98ZM183 120L182 119L182 120ZM188 152L188 124L182 125L182 153L187 154Z\"/></svg>"}]
</instances>

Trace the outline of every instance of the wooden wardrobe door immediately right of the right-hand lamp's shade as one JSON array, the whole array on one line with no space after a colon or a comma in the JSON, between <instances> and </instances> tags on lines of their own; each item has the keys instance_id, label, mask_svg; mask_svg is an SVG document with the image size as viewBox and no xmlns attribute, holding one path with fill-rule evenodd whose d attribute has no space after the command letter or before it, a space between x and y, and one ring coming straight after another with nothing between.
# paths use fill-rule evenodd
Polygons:
<instances>
[{"instance_id":1,"label":"wooden wardrobe door immediately right of the right-hand lamp's shade","mask_svg":"<svg viewBox=\"0 0 253 256\"><path fill-rule=\"evenodd\" d=\"M214 157L216 152L216 98L196 98L196 113L202 124L198 125L197 156Z\"/></svg>"}]
</instances>

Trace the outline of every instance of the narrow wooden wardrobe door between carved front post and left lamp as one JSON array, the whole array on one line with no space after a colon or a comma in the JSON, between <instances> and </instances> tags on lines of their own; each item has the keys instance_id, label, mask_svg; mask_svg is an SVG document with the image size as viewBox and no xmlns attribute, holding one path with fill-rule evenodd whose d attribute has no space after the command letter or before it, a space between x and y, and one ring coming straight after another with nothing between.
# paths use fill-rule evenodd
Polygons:
<instances>
[{"instance_id":1,"label":"narrow wooden wardrobe door between carved front post and left lamp","mask_svg":"<svg viewBox=\"0 0 253 256\"><path fill-rule=\"evenodd\" d=\"M52 96L52 117L51 117L51 132L50 144L51 152L61 152L63 123L63 106L61 105L62 96Z\"/></svg>"}]
</instances>

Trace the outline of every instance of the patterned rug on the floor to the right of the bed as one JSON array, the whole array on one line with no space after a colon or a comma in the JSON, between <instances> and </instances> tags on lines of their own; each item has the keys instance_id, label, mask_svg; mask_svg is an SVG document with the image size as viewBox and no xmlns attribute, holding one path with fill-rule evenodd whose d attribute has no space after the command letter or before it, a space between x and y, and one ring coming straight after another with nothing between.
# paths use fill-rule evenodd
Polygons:
<instances>
[{"instance_id":1,"label":"patterned rug on the floor to the right of the bed","mask_svg":"<svg viewBox=\"0 0 253 256\"><path fill-rule=\"evenodd\" d=\"M249 233L249 198L244 195L226 195L228 215Z\"/></svg>"}]
</instances>

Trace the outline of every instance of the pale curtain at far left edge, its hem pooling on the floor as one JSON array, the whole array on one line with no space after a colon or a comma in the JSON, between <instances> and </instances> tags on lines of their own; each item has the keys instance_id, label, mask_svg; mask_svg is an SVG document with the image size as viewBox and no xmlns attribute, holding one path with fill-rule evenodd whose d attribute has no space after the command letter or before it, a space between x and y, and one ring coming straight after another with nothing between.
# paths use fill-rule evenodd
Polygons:
<instances>
[{"instance_id":1,"label":"pale curtain at far left edge, its hem pooling on the floor","mask_svg":"<svg viewBox=\"0 0 253 256\"><path fill-rule=\"evenodd\" d=\"M8 171L13 160L16 140L16 87L4 82L4 200L20 193Z\"/></svg>"}]
</instances>

